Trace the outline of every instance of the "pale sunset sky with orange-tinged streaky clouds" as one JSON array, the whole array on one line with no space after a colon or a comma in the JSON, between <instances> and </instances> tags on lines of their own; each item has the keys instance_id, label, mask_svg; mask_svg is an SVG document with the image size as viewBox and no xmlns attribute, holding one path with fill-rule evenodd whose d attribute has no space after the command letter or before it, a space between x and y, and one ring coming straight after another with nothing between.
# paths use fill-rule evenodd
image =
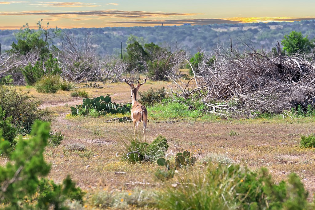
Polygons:
<instances>
[{"instance_id":1,"label":"pale sunset sky with orange-tinged streaky clouds","mask_svg":"<svg viewBox=\"0 0 315 210\"><path fill-rule=\"evenodd\" d=\"M299 21L315 19L314 8L314 0L0 0L0 30L39 20L58 28Z\"/></svg>"}]
</instances>

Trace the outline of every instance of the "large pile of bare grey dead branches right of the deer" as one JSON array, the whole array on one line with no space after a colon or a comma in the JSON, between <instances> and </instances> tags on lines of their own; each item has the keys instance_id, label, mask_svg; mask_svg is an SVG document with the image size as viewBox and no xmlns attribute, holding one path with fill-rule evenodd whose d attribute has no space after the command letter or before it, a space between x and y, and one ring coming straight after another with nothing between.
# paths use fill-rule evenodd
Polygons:
<instances>
[{"instance_id":1,"label":"large pile of bare grey dead branches right of the deer","mask_svg":"<svg viewBox=\"0 0 315 210\"><path fill-rule=\"evenodd\" d=\"M299 55L216 52L215 61L193 69L195 77L176 82L180 96L203 100L220 115L283 113L297 105L315 106L315 64Z\"/></svg>"}]
</instances>

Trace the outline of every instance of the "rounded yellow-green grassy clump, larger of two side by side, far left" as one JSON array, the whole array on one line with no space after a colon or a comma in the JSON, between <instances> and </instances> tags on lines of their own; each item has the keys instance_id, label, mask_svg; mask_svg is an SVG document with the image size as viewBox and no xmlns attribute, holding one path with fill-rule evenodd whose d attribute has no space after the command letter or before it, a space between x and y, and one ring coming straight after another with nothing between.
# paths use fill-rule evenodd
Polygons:
<instances>
[{"instance_id":1,"label":"rounded yellow-green grassy clump, larger of two side by side, far left","mask_svg":"<svg viewBox=\"0 0 315 210\"><path fill-rule=\"evenodd\" d=\"M57 93L60 89L60 76L44 76L36 82L35 88L38 93Z\"/></svg>"}]
</instances>

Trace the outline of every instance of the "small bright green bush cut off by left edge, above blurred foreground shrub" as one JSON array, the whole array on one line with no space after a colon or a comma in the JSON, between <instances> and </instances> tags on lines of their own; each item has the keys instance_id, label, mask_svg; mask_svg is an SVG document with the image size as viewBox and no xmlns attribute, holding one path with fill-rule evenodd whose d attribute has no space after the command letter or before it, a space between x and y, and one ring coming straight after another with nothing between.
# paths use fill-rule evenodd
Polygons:
<instances>
[{"instance_id":1,"label":"small bright green bush cut off by left edge, above blurred foreground shrub","mask_svg":"<svg viewBox=\"0 0 315 210\"><path fill-rule=\"evenodd\" d=\"M2 137L4 140L9 141L11 146L14 144L14 138L16 136L16 130L11 124L12 116L5 118L5 111L0 106L0 132L2 131ZM0 139L1 141L2 139Z\"/></svg>"}]
</instances>

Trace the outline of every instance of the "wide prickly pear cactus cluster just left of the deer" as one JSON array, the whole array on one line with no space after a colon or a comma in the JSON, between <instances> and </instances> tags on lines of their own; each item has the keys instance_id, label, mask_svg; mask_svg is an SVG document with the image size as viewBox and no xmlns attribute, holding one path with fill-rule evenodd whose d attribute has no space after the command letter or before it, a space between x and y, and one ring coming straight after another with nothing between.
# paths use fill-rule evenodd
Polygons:
<instances>
[{"instance_id":1,"label":"wide prickly pear cactus cluster just left of the deer","mask_svg":"<svg viewBox=\"0 0 315 210\"><path fill-rule=\"evenodd\" d=\"M100 96L96 98L87 98L82 100L82 105L76 105L71 108L72 115L88 115L89 109L95 109L101 112L101 114L106 115L107 113L117 114L117 113L128 113L131 110L130 105L126 104L116 104L112 102L109 95Z\"/></svg>"}]
</instances>

